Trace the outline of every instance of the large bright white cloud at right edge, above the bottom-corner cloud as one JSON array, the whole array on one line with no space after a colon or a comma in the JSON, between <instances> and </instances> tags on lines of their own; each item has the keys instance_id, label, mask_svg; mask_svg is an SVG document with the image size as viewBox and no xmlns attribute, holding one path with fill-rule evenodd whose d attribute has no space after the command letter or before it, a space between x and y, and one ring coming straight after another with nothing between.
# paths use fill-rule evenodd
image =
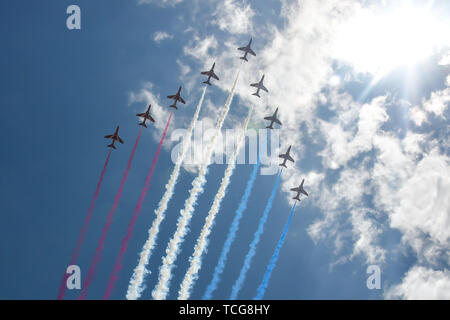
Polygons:
<instances>
[{"instance_id":1,"label":"large bright white cloud at right edge, above the bottom-corner cloud","mask_svg":"<svg viewBox=\"0 0 450 320\"><path fill-rule=\"evenodd\" d=\"M425 249L431 250L423 257L427 262L436 258L430 253L442 253L436 249L450 246L449 194L450 159L436 149L425 155L396 191L397 205L390 214L390 225L402 231L403 241L419 258Z\"/></svg>"}]
</instances>

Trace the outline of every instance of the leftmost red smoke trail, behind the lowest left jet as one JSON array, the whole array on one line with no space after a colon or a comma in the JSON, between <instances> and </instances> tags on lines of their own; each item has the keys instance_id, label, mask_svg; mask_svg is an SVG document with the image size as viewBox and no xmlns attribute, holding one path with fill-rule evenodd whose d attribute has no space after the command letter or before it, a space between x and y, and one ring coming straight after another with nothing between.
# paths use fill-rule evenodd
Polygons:
<instances>
[{"instance_id":1,"label":"leftmost red smoke trail, behind the lowest left jet","mask_svg":"<svg viewBox=\"0 0 450 320\"><path fill-rule=\"evenodd\" d=\"M111 151L112 150L110 150L108 152L108 156L106 157L105 164L103 165L103 170L102 170L102 173L100 174L100 179L98 180L98 183L97 183L97 188L95 189L94 196L92 197L92 200L91 200L91 205L89 206L88 215L84 219L83 228L81 229L80 236L78 237L77 245L75 246L75 250L72 253L72 258L70 260L69 265L74 265L78 259L78 256L80 255L81 245L84 243L84 239L86 237L86 232L87 232L87 229L89 226L89 222L91 221L92 214L94 212L95 202L97 201L98 194L100 192L100 187L103 182L103 177L105 175L106 168L108 167L108 162L109 162L109 157L111 156ZM61 281L61 285L59 287L58 300L62 300L64 298L64 294L66 293L66 282L67 282L68 277L69 277L69 275L66 272L64 272L64 276Z\"/></svg>"}]
</instances>

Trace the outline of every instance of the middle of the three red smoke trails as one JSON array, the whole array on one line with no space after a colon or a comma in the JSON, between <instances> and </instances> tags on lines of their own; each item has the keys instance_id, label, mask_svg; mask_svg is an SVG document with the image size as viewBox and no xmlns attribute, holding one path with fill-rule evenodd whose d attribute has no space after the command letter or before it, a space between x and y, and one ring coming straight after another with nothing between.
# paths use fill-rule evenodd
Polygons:
<instances>
[{"instance_id":1,"label":"middle of the three red smoke trails","mask_svg":"<svg viewBox=\"0 0 450 320\"><path fill-rule=\"evenodd\" d=\"M133 147L133 150L131 151L130 158L128 159L127 168L125 169L125 172L122 176L122 181L120 182L119 190L117 191L116 196L114 198L114 204L113 204L111 210L109 210L108 217L106 219L106 224L102 230L102 236L100 237L97 249L95 250L94 258L91 261L91 266L89 268L88 275L87 275L86 279L84 280L81 294L78 297L78 299L80 299L80 300L86 299L87 291L89 289L89 286L91 285L92 280L94 279L95 267L100 262L103 246L105 245L106 235L108 233L109 228L111 227L114 212L116 211L117 205L119 204L120 197L122 196L122 189L125 185L125 182L127 181L128 171L130 171L131 163L133 162L134 153L136 152L136 148L137 148L137 145L139 142L139 138L141 137L141 133L142 133L142 128L141 128L141 130L139 130L139 134L136 138L136 142L134 143L134 147Z\"/></svg>"}]
</instances>

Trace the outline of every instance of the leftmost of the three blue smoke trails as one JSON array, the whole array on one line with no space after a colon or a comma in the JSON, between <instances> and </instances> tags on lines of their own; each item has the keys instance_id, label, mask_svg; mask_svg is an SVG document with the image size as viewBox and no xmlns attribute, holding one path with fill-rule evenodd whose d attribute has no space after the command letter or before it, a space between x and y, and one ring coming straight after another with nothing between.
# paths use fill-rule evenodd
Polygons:
<instances>
[{"instance_id":1,"label":"leftmost of the three blue smoke trails","mask_svg":"<svg viewBox=\"0 0 450 320\"><path fill-rule=\"evenodd\" d=\"M233 244L234 239L236 238L236 233L239 230L239 223L241 221L242 214L247 208L247 202L252 192L253 185L255 184L260 164L261 162L258 155L258 160L256 164L253 165L253 171L250 175L250 179L247 182L247 186L245 187L245 192L244 195L242 196L241 202L239 203L239 207L236 210L236 214L231 224L230 231L228 231L227 239L225 240L222 252L220 253L219 262L217 263L216 268L214 269L213 278L209 283L208 287L206 288L205 294L203 295L202 298L203 300L210 300L212 298L212 294L217 289L217 286L221 280L220 276L222 275L223 269L225 268L226 260L228 257L228 253L230 252L231 245Z\"/></svg>"}]
</instances>

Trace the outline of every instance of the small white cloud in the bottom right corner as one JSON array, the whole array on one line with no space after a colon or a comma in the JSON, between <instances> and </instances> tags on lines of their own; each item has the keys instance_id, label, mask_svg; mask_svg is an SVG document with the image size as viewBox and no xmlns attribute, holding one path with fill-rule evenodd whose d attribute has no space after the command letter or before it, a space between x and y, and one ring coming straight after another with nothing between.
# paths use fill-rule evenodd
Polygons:
<instances>
[{"instance_id":1,"label":"small white cloud in the bottom right corner","mask_svg":"<svg viewBox=\"0 0 450 320\"><path fill-rule=\"evenodd\" d=\"M422 266L411 268L403 281L385 292L387 299L449 300L450 272L435 271Z\"/></svg>"}]
</instances>

